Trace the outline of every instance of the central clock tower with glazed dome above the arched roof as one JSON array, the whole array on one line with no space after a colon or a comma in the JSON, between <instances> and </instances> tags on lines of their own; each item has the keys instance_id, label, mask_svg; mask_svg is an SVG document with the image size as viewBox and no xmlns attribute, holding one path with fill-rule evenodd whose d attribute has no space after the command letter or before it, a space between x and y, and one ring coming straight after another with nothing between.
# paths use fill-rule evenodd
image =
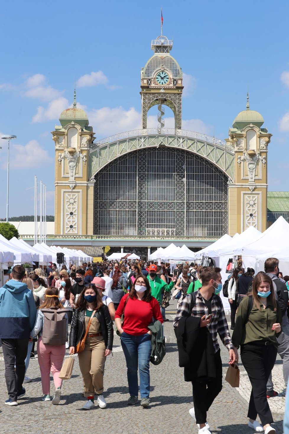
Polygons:
<instances>
[{"instance_id":1,"label":"central clock tower with glazed dome above the arched roof","mask_svg":"<svg viewBox=\"0 0 289 434\"><path fill-rule=\"evenodd\" d=\"M177 61L170 55L173 41L166 36L158 36L151 41L154 55L141 69L141 125L147 128L148 110L158 105L159 128L164 127L164 110L167 105L174 112L174 128L182 128L182 71Z\"/></svg>"}]
</instances>

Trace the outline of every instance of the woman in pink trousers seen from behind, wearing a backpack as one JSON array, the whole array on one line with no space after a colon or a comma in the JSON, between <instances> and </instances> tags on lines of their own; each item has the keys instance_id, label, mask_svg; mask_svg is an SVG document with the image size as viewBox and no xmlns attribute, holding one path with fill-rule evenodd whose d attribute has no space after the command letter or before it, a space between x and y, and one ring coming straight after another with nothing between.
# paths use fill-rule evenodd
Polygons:
<instances>
[{"instance_id":1,"label":"woman in pink trousers seen from behind, wearing a backpack","mask_svg":"<svg viewBox=\"0 0 289 434\"><path fill-rule=\"evenodd\" d=\"M42 401L51 401L50 398L50 371L53 375L53 381L55 385L55 394L52 399L52 404L59 404L60 395L61 395L61 386L62 379L59 378L59 372L62 368L63 359L65 356L65 342L66 335L68 332L68 319L67 313L65 313L66 320L66 333L63 336L57 335L57 340L63 340L63 344L60 345L51 345L44 344L42 341L43 335L43 325L45 321L49 321L49 319L44 317L42 310L55 310L55 309L63 309L64 312L66 310L63 308L61 302L59 301L59 292L58 289L54 286L49 286L45 291L45 300L39 306L36 316L36 322L34 325L34 330L32 331L34 337L38 335L38 343L37 343L37 355L38 355L38 363L41 372L41 384L42 384ZM45 312L46 313L46 312ZM60 321L59 321L60 322ZM57 327L56 327L57 328Z\"/></svg>"}]
</instances>

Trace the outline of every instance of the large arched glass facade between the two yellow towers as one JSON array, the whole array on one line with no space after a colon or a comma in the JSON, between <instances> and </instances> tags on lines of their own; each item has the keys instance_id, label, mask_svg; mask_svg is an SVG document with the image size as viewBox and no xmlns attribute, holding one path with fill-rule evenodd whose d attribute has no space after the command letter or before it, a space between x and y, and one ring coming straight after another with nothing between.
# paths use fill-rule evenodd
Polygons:
<instances>
[{"instance_id":1,"label":"large arched glass facade between the two yellow towers","mask_svg":"<svg viewBox=\"0 0 289 434\"><path fill-rule=\"evenodd\" d=\"M94 233L221 237L228 224L227 180L189 151L133 151L95 175Z\"/></svg>"}]
</instances>

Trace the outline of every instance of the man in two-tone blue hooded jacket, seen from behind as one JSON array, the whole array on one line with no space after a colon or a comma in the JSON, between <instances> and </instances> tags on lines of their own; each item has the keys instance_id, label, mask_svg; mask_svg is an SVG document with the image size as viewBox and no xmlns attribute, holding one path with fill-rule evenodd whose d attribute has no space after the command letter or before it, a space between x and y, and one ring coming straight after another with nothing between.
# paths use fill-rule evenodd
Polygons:
<instances>
[{"instance_id":1,"label":"man in two-tone blue hooded jacket, seen from behind","mask_svg":"<svg viewBox=\"0 0 289 434\"><path fill-rule=\"evenodd\" d=\"M12 270L12 279L0 288L0 338L9 395L5 401L7 405L17 405L17 399L25 395L25 358L36 319L33 293L26 283L22 283L24 276L25 268L16 265Z\"/></svg>"}]
</instances>

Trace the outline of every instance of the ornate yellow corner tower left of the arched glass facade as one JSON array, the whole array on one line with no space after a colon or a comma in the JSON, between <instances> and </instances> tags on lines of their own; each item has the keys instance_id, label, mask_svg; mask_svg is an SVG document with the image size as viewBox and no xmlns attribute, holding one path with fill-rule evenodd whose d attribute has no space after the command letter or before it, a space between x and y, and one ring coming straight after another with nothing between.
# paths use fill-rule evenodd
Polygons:
<instances>
[{"instance_id":1,"label":"ornate yellow corner tower left of the arched glass facade","mask_svg":"<svg viewBox=\"0 0 289 434\"><path fill-rule=\"evenodd\" d=\"M94 133L86 113L76 107L59 118L52 132L55 143L55 233L93 233L93 186L88 179L88 152Z\"/></svg>"}]
</instances>

